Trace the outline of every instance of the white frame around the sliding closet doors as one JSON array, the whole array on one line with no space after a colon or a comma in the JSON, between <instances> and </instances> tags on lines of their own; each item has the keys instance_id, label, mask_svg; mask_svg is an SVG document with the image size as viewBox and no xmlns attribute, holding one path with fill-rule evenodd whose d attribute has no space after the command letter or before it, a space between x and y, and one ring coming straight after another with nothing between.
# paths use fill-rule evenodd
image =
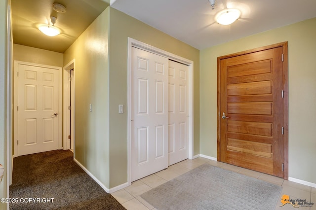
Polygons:
<instances>
[{"instance_id":1,"label":"white frame around the sliding closet doors","mask_svg":"<svg viewBox=\"0 0 316 210\"><path fill-rule=\"evenodd\" d=\"M193 61L185 59L183 57L174 55L172 53L166 52L161 50L157 47L151 46L144 42L138 41L136 39L128 37L128 45L127 45L127 181L128 185L131 184L131 141L132 141L132 47L137 47L139 49L145 50L147 52L151 52L163 57L166 57L170 60L185 64L189 66L189 159L193 159L194 157L194 144L193 144L193 137L194 137L194 125L193 125Z\"/></svg>"}]
</instances>

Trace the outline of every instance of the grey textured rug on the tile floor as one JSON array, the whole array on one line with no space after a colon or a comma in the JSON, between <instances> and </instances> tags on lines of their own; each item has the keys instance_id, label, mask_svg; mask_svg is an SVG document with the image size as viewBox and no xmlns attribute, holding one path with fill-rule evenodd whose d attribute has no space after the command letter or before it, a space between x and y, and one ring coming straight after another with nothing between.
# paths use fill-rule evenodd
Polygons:
<instances>
[{"instance_id":1,"label":"grey textured rug on the tile floor","mask_svg":"<svg viewBox=\"0 0 316 210\"><path fill-rule=\"evenodd\" d=\"M141 195L158 210L274 210L282 187L204 164Z\"/></svg>"}]
</instances>

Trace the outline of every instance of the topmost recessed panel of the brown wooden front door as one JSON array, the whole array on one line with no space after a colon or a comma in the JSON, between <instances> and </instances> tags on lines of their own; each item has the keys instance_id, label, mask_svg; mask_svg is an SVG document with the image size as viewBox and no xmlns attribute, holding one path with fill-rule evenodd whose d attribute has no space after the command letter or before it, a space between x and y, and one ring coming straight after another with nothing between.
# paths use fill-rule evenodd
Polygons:
<instances>
[{"instance_id":1,"label":"topmost recessed panel of the brown wooden front door","mask_svg":"<svg viewBox=\"0 0 316 210\"><path fill-rule=\"evenodd\" d=\"M231 66L227 68L227 77L249 76L255 74L271 73L271 60Z\"/></svg>"}]
</instances>

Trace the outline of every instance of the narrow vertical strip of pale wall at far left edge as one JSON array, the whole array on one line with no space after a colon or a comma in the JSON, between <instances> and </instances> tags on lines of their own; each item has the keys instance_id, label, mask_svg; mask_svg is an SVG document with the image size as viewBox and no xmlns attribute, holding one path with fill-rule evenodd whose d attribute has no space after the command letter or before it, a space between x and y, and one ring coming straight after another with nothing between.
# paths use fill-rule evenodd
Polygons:
<instances>
[{"instance_id":1,"label":"narrow vertical strip of pale wall at far left edge","mask_svg":"<svg viewBox=\"0 0 316 210\"><path fill-rule=\"evenodd\" d=\"M7 0L0 1L0 164L5 168L4 177L0 183L0 198L7 195L6 177L6 75L7 75ZM6 203L0 202L0 209L6 209Z\"/></svg>"}]
</instances>

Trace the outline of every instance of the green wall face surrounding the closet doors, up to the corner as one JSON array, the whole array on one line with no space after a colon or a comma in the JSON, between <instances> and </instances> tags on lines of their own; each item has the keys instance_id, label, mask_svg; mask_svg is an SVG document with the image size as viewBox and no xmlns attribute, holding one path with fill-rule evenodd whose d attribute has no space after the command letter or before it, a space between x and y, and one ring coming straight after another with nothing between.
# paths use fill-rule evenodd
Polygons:
<instances>
[{"instance_id":1,"label":"green wall face surrounding the closet doors, up to the corner","mask_svg":"<svg viewBox=\"0 0 316 210\"><path fill-rule=\"evenodd\" d=\"M118 105L122 104L127 107L128 37L194 62L194 154L199 154L199 51L110 7L109 143L111 188L127 182L127 111L119 114Z\"/></svg>"}]
</instances>

